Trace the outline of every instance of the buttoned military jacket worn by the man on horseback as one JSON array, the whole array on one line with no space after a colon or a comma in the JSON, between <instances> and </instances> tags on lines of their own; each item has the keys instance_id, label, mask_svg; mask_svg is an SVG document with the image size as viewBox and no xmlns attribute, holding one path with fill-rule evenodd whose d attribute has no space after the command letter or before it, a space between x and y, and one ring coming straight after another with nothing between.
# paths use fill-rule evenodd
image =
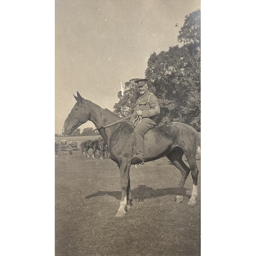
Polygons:
<instances>
[{"instance_id":1,"label":"buttoned military jacket worn by the man on horseback","mask_svg":"<svg viewBox=\"0 0 256 256\"><path fill-rule=\"evenodd\" d=\"M157 97L153 93L146 92L141 95L136 101L135 109L142 111L141 122L156 124L156 116L160 114L160 106ZM130 121L134 119L133 116Z\"/></svg>"}]
</instances>

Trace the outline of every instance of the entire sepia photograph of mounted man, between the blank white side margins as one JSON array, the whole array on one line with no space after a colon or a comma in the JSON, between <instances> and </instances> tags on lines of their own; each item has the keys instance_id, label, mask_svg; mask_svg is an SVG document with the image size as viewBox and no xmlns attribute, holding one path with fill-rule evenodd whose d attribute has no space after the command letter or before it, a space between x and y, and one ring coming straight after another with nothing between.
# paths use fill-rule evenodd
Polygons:
<instances>
[{"instance_id":1,"label":"entire sepia photograph of mounted man, between the blank white side margins","mask_svg":"<svg viewBox=\"0 0 256 256\"><path fill-rule=\"evenodd\" d=\"M200 255L200 0L55 0L55 255Z\"/></svg>"}]
</instances>

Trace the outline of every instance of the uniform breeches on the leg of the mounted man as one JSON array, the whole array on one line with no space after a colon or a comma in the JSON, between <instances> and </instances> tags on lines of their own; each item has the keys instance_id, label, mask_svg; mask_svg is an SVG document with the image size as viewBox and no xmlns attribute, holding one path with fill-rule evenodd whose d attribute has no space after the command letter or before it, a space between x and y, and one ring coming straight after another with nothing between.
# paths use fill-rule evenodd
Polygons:
<instances>
[{"instance_id":1,"label":"uniform breeches on the leg of the mounted man","mask_svg":"<svg viewBox=\"0 0 256 256\"><path fill-rule=\"evenodd\" d=\"M145 133L153 129L156 125L152 123L140 122L134 128L134 140L136 146L136 154L138 157L144 159L144 135Z\"/></svg>"}]
</instances>

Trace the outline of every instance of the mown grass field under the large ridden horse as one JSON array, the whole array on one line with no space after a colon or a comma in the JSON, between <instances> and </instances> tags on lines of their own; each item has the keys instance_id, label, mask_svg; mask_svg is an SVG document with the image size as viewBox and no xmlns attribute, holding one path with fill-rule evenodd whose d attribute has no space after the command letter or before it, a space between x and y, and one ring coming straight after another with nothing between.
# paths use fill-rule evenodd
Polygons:
<instances>
[{"instance_id":1,"label":"mown grass field under the large ridden horse","mask_svg":"<svg viewBox=\"0 0 256 256\"><path fill-rule=\"evenodd\" d=\"M200 155L197 155L200 171ZM185 162L186 163L186 162ZM175 202L181 174L166 157L131 167L133 207L115 217L120 172L111 159L55 157L55 255L200 255L200 172L196 205Z\"/></svg>"}]
</instances>

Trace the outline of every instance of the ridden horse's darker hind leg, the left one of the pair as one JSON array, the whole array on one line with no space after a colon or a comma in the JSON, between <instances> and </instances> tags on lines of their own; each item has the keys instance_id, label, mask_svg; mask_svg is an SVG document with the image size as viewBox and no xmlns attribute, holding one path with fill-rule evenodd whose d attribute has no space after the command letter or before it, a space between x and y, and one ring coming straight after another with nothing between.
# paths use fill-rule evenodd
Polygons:
<instances>
[{"instance_id":1,"label":"ridden horse's darker hind leg, the left one of the pair","mask_svg":"<svg viewBox=\"0 0 256 256\"><path fill-rule=\"evenodd\" d=\"M180 170L181 175L182 175L179 186L178 186L179 188L176 190L176 192L178 194L176 196L177 203L180 203L183 201L183 196L182 196L183 187L186 182L187 176L190 172L190 169L182 160L183 154L184 154L183 151L177 149L177 150L170 152L168 155L166 155L166 157L174 164L174 166Z\"/></svg>"}]
</instances>

